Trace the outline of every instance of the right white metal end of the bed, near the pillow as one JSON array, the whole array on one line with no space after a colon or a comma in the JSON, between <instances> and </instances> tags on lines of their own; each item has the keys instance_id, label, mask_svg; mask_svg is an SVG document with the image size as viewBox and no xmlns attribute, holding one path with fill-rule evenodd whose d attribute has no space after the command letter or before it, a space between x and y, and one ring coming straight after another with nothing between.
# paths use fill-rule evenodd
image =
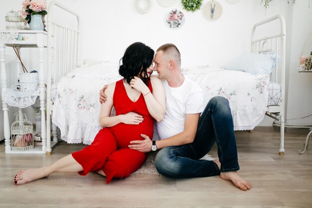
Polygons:
<instances>
[{"instance_id":1,"label":"right white metal end of the bed, near the pillow","mask_svg":"<svg viewBox=\"0 0 312 208\"><path fill-rule=\"evenodd\" d=\"M268 22L274 21L278 19L281 29L280 32L274 35L271 35L269 37L263 37L256 39L256 28L264 25ZM280 43L280 45L279 45ZM279 83L281 85L281 95L282 95L282 101L279 106L268 106L266 115L279 121L281 124L280 132L281 132L281 141L280 141L280 150L279 154L284 155L285 149L284 149L284 133L285 133L285 58L286 58L286 29L285 29L285 20L284 17L281 14L272 16L271 18L268 18L266 20L263 20L259 23L256 23L252 28L252 34L251 34L251 51L252 52L266 52L266 51L275 51L276 52L276 59L275 59L275 77L274 71L271 73L271 81L274 81L276 83ZM280 49L280 51L279 51ZM280 53L279 53L280 52ZM280 60L280 66L278 57L281 56ZM280 75L279 75L280 73ZM280 77L280 80L278 79Z\"/></svg>"}]
</instances>

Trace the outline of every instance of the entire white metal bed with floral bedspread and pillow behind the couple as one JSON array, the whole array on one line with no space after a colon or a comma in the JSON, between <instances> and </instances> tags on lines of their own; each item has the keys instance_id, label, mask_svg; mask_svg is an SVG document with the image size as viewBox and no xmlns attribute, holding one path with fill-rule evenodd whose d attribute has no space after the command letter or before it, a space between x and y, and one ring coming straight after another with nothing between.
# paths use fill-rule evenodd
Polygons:
<instances>
[{"instance_id":1,"label":"entire white metal bed with floral bedspread and pillow behind the couple","mask_svg":"<svg viewBox=\"0 0 312 208\"><path fill-rule=\"evenodd\" d=\"M76 20L76 27L53 21L54 7L62 8ZM51 135L68 143L91 144L101 129L99 90L121 79L118 65L95 60L77 61L79 17L58 2L49 4L48 83L47 83L47 153L51 153ZM278 21L280 32L265 36L263 25ZM259 37L259 31L261 36ZM259 61L260 60L260 61ZM263 72L263 66L265 70ZM259 70L258 70L259 69ZM252 70L252 71L250 71ZM256 70L256 71L255 71ZM257 71L258 70L258 71ZM269 70L269 71L268 71ZM183 73L203 89L204 105L213 96L229 100L235 130L252 130L268 115L281 124L279 153L284 149L285 97L285 22L273 16L253 26L251 52L244 53L220 67L194 66ZM114 115L114 110L112 111ZM51 132L52 121L52 133ZM154 139L158 139L156 129Z\"/></svg>"}]
</instances>

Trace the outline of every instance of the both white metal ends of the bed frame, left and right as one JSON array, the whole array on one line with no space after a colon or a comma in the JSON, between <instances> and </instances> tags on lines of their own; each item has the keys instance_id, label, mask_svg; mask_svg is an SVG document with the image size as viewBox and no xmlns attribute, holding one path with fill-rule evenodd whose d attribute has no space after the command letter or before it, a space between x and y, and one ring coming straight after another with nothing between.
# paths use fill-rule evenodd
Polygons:
<instances>
[{"instance_id":1,"label":"both white metal ends of the bed frame, left and right","mask_svg":"<svg viewBox=\"0 0 312 208\"><path fill-rule=\"evenodd\" d=\"M70 14L76 16L77 18L77 29L70 29L56 24L51 15L53 14L53 8L57 6L63 10L69 12ZM63 6L62 4L51 1L48 7L48 83L47 83L47 121L46 121L46 131L47 131L47 155L51 154L51 85L57 83L61 76L65 75L71 69L76 66L77 56L78 56L78 36L79 36L79 16L77 13L71 9ZM266 24L270 21L279 19L281 30L278 34L264 37L260 39L255 39L255 30L257 27ZM62 38L62 39L61 39ZM281 93L282 98L285 100L285 21L282 15L275 15L271 18L268 18L264 21L261 21L253 26L252 36L251 36L251 50L252 52L264 52L274 50L279 54L279 42L281 42L281 61L280 66L278 58L276 58L276 67L275 67L275 82L281 84ZM265 47L266 46L266 47ZM55 57L57 61L55 61ZM279 76L280 73L280 76ZM280 80L278 77L281 77ZM272 76L271 76L272 78ZM284 149L284 113L285 113L285 104L284 100L280 103L279 106L269 106L267 108L266 115L280 121L281 123L281 141L280 141L280 155L283 155L285 152ZM52 125L52 135L53 143L58 142L57 138L57 128Z\"/></svg>"}]
</instances>

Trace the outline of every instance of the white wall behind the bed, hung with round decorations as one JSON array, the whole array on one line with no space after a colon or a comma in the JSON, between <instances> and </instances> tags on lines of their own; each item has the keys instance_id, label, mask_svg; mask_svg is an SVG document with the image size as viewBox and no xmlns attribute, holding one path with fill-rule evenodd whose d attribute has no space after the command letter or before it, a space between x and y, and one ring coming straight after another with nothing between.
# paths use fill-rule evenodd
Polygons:
<instances>
[{"instance_id":1,"label":"white wall behind the bed, hung with round decorations","mask_svg":"<svg viewBox=\"0 0 312 208\"><path fill-rule=\"evenodd\" d=\"M5 28L5 13L11 9L20 9L21 1L10 0L5 1L4 5L1 4L0 29ZM297 72L303 42L312 29L312 14L308 10L308 0L297 0L294 6L287 4L286 0L274 0L267 10L260 4L261 0L241 0L237 4L218 0L223 7L223 14L217 21L206 20L201 9L196 12L185 11L180 0L172 7L163 7L156 0L152 0L153 7L147 14L137 11L135 0L89 0L88 3L85 0L58 1L80 14L80 58L109 59L118 62L127 46L135 41L144 42L155 50L161 44L172 42L181 52L182 67L220 66L242 52L250 51L252 25L281 13L287 22L287 38L289 38L287 50L290 62L287 70L291 70L288 73L290 84L288 117L302 117L312 113L311 75ZM203 1L204 4L206 2L208 0ZM181 10L185 15L185 24L178 30L169 29L164 23L166 13L173 8ZM15 56L11 48L6 49L7 71L11 72ZM22 53L24 64L29 68L37 68L36 50L24 49ZM11 82L9 85L14 84L14 79ZM296 107L302 101L305 104L300 105L300 108ZM17 109L10 110L11 122L12 114ZM29 108L28 117L34 121L31 112ZM312 123L312 117L296 122ZM1 111L0 138L3 138L2 123ZM265 119L260 125L271 124L271 119Z\"/></svg>"}]
</instances>

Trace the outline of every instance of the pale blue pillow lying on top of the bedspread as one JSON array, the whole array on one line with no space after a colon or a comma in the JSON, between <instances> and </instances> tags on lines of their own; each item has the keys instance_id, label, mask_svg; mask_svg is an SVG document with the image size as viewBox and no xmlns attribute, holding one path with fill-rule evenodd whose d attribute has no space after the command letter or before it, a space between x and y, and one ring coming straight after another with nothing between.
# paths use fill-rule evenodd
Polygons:
<instances>
[{"instance_id":1,"label":"pale blue pillow lying on top of the bedspread","mask_svg":"<svg viewBox=\"0 0 312 208\"><path fill-rule=\"evenodd\" d=\"M229 63L222 66L224 69L244 71L251 74L270 74L275 67L275 52L270 53L243 53Z\"/></svg>"}]
</instances>

